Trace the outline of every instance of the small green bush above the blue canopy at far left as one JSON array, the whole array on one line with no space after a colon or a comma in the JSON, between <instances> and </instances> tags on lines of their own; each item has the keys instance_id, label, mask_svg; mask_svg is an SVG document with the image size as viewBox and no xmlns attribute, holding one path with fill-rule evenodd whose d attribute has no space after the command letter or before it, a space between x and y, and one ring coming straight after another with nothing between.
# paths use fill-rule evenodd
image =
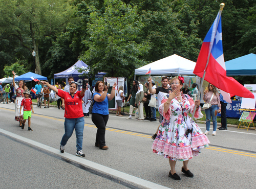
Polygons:
<instances>
[{"instance_id":1,"label":"small green bush above the blue canopy at far left","mask_svg":"<svg viewBox=\"0 0 256 189\"><path fill-rule=\"evenodd\" d=\"M28 72L28 70L25 67L24 63L26 63L26 62L17 60L17 62L11 64L10 66L6 65L4 68L4 72L6 75L4 77L13 77L12 71L14 71L17 76L26 74Z\"/></svg>"}]
</instances>

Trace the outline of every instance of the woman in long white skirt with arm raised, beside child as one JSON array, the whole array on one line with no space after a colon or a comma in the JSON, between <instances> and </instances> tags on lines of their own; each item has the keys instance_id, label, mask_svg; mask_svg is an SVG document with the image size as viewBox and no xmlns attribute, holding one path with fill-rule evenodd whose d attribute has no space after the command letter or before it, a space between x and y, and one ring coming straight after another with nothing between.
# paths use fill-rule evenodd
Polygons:
<instances>
[{"instance_id":1,"label":"woman in long white skirt with arm raised, beside child","mask_svg":"<svg viewBox=\"0 0 256 189\"><path fill-rule=\"evenodd\" d=\"M22 103L22 100L24 99L24 91L25 91L25 85L24 85L24 81L20 80L18 82L18 86L15 84L14 82L14 78L15 78L15 72L12 71L13 74L13 86L16 90L16 100L15 100L15 120L17 122L19 122L19 127L22 127L22 121L23 121L23 109L21 111L22 114L19 114L19 108L20 108L20 104Z\"/></svg>"}]
</instances>

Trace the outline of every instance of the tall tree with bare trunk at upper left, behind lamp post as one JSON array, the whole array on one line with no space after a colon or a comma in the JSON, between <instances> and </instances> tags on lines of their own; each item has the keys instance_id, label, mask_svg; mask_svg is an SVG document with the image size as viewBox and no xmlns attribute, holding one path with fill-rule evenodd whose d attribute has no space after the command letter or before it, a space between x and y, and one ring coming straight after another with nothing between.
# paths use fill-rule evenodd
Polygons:
<instances>
[{"instance_id":1,"label":"tall tree with bare trunk at upper left, behind lamp post","mask_svg":"<svg viewBox=\"0 0 256 189\"><path fill-rule=\"evenodd\" d=\"M0 0L1 38L16 37L23 48L35 56L35 73L41 75L40 40L66 27L72 10L66 0Z\"/></svg>"}]
</instances>

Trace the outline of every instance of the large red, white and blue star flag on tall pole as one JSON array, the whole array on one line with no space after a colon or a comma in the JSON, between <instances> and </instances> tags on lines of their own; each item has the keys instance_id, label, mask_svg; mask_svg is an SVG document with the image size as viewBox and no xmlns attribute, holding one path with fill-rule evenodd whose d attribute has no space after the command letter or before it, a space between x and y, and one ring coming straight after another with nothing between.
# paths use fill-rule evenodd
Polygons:
<instances>
[{"instance_id":1,"label":"large red, white and blue star flag on tall pole","mask_svg":"<svg viewBox=\"0 0 256 189\"><path fill-rule=\"evenodd\" d=\"M220 17L219 23L218 19ZM209 63L206 67L207 60ZM254 95L237 80L227 77L226 65L222 49L221 12L219 11L214 23L206 34L194 69L194 74L221 89L222 93L230 93L230 97L237 95L244 98L253 98ZM225 94L223 97L226 96ZM226 100L226 99L224 99ZM227 99L228 100L228 99ZM226 100L226 101L227 101ZM230 100L230 99L229 99Z\"/></svg>"}]
</instances>

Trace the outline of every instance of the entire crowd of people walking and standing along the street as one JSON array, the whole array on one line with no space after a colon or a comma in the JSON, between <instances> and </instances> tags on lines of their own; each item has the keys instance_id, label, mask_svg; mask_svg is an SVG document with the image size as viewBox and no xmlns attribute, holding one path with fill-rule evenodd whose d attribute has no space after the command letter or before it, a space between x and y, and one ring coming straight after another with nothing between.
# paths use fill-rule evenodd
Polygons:
<instances>
[{"instance_id":1,"label":"entire crowd of people walking and standing along the street","mask_svg":"<svg viewBox=\"0 0 256 189\"><path fill-rule=\"evenodd\" d=\"M15 72L12 72L12 74L14 78ZM180 176L175 169L177 161L183 162L181 171L187 177L193 177L193 173L188 169L188 161L193 156L197 156L203 148L209 146L210 142L206 135L209 134L211 119L214 128L212 135L216 135L217 112L223 115L222 127L218 129L227 129L225 120L227 103L219 94L218 89L209 83L203 93L203 100L209 106L204 110L206 114L206 131L203 133L189 116L189 112L193 113L194 110L195 119L203 116L200 100L196 100L199 93L197 84L194 83L193 89L190 91L188 85L184 84L184 78L180 76L174 78L162 77L161 82L162 86L156 87L154 80L150 77L143 87L142 83L137 80L133 81L127 98L127 103L130 104L130 111L126 119L132 120L132 115L135 111L134 119L156 122L157 99L160 125L152 136L152 139L154 139L153 152L168 158L170 164L169 177L180 180ZM61 84L56 82L55 85L51 85L47 81L38 81L34 87L36 89L37 102L41 93L44 94L45 108L49 108L50 90L55 92L58 109L65 109L65 134L63 134L60 141L60 152L65 152L65 146L75 130L76 155L80 157L85 156L82 152L84 117L89 117L89 111L91 110L92 122L97 127L95 147L101 150L108 150L109 147L106 146L105 142L105 128L109 120L109 101L115 97L117 104L116 115L123 116L121 107L125 99L124 87L117 86L116 83L113 84L110 93L108 93L108 84L102 81L96 83L92 92L88 79L85 79L85 83L87 83L86 86L83 85L78 88L78 83L74 81L74 78L69 77L68 84L65 81L62 81ZM31 113L34 113L34 110L30 90L25 84L23 80L16 84L13 79L12 85L7 84L3 89L2 83L0 83L0 92L1 95L3 90L10 94L11 102L15 103L15 120L19 122L19 126L24 129L28 120L28 131L33 131L31 129ZM146 114L145 117L143 107Z\"/></svg>"}]
</instances>

